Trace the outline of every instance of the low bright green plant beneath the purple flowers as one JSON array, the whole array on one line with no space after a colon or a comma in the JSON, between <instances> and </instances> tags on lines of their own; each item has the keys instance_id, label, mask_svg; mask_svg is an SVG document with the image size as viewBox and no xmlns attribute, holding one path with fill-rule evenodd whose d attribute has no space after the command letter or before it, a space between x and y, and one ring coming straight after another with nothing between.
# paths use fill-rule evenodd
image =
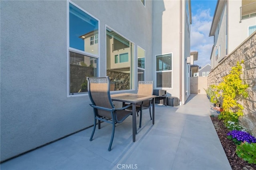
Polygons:
<instances>
[{"instance_id":1,"label":"low bright green plant beneath the purple flowers","mask_svg":"<svg viewBox=\"0 0 256 170\"><path fill-rule=\"evenodd\" d=\"M236 146L236 154L249 164L256 164L256 143L244 142Z\"/></svg>"}]
</instances>

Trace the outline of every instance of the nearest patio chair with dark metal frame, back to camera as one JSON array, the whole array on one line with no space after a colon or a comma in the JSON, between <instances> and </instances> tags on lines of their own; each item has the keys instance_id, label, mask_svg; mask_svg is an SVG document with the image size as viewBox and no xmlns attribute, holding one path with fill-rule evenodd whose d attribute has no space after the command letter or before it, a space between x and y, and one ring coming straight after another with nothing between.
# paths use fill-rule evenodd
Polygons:
<instances>
[{"instance_id":1,"label":"nearest patio chair with dark metal frame, back to camera","mask_svg":"<svg viewBox=\"0 0 256 170\"><path fill-rule=\"evenodd\" d=\"M124 110L127 107L132 106L132 104L126 107L116 109L112 103L110 97L110 81L109 77L87 77L88 81L88 94L93 107L94 113L94 127L90 137L94 135L96 129L96 121L98 120L98 129L100 129L101 121L112 124L112 136L108 146L108 151L111 150L112 142L115 133L115 123L122 123L129 115L131 111Z\"/></svg>"}]
</instances>

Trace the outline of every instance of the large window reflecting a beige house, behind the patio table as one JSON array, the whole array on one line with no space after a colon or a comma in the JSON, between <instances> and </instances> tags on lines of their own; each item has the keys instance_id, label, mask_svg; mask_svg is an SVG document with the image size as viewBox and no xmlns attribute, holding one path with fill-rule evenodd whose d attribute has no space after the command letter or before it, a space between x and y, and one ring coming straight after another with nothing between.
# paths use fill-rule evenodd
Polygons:
<instances>
[{"instance_id":1,"label":"large window reflecting a beige house, behind the patio table","mask_svg":"<svg viewBox=\"0 0 256 170\"><path fill-rule=\"evenodd\" d=\"M134 89L134 43L106 28L107 75L115 90Z\"/></svg>"}]
</instances>

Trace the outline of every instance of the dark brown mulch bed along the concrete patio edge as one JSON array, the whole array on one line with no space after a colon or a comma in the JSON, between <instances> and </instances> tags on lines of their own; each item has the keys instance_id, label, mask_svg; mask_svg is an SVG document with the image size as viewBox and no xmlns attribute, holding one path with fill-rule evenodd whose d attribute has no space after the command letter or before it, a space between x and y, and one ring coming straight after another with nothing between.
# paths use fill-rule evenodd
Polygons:
<instances>
[{"instance_id":1,"label":"dark brown mulch bed along the concrete patio edge","mask_svg":"<svg viewBox=\"0 0 256 170\"><path fill-rule=\"evenodd\" d=\"M218 117L211 117L211 119L232 170L256 170L256 164L249 164L237 156L235 152L236 144L227 138L229 130L224 126L224 123L220 121Z\"/></svg>"}]
</instances>

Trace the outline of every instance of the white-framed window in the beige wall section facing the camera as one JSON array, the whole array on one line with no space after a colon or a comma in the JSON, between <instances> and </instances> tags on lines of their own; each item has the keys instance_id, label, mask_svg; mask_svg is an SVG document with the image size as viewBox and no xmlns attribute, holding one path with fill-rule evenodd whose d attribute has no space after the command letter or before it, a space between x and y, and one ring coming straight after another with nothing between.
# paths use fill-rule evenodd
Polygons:
<instances>
[{"instance_id":1,"label":"white-framed window in the beige wall section facing the camera","mask_svg":"<svg viewBox=\"0 0 256 170\"><path fill-rule=\"evenodd\" d=\"M172 88L172 53L156 55L156 88Z\"/></svg>"}]
</instances>

